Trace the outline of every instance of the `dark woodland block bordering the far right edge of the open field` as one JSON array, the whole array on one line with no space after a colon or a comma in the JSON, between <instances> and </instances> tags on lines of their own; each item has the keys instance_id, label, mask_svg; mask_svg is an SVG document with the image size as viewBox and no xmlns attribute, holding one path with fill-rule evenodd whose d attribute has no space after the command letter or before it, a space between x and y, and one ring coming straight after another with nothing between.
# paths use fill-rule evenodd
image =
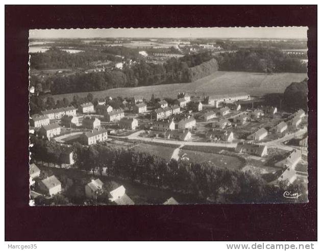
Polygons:
<instances>
[{"instance_id":1,"label":"dark woodland block bordering the far right edge of the open field","mask_svg":"<svg viewBox=\"0 0 322 251\"><path fill-rule=\"evenodd\" d=\"M241 49L216 56L219 70L251 72L307 72L306 64L276 49Z\"/></svg>"}]
</instances>

